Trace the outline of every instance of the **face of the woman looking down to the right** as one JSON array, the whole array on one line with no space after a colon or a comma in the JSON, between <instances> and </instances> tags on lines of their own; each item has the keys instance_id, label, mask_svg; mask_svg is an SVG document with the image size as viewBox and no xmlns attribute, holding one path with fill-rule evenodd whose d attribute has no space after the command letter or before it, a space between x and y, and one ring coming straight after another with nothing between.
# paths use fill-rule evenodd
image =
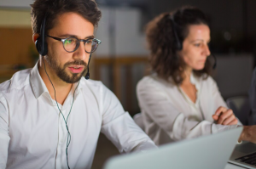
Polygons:
<instances>
[{"instance_id":1,"label":"face of the woman looking down to the right","mask_svg":"<svg viewBox=\"0 0 256 169\"><path fill-rule=\"evenodd\" d=\"M186 64L186 69L202 70L207 56L211 53L208 48L210 29L207 25L189 25L189 35L183 41L183 49L179 52Z\"/></svg>"}]
</instances>

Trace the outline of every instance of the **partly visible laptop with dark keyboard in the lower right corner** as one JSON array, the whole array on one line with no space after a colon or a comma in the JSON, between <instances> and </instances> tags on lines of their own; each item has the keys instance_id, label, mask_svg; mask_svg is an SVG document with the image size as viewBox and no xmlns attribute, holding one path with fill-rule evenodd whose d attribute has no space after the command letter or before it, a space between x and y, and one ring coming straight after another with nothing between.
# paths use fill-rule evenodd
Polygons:
<instances>
[{"instance_id":1,"label":"partly visible laptop with dark keyboard in the lower right corner","mask_svg":"<svg viewBox=\"0 0 256 169\"><path fill-rule=\"evenodd\" d=\"M256 168L256 144L243 141L236 145L229 162L237 166Z\"/></svg>"}]
</instances>

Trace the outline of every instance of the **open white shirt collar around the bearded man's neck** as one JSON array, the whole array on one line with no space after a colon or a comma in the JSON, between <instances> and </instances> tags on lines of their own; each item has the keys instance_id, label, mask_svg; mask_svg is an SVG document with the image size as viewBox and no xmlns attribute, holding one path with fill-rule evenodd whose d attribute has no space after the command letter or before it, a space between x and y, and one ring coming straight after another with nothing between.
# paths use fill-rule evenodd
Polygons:
<instances>
[{"instance_id":1,"label":"open white shirt collar around the bearded man's neck","mask_svg":"<svg viewBox=\"0 0 256 169\"><path fill-rule=\"evenodd\" d=\"M49 95L49 91L48 91L47 87L45 86L42 77L39 74L38 62L32 68L30 82L32 84L32 91L33 91L36 99L38 99L43 93L48 93L48 95ZM82 79L80 80L80 82L73 83L72 91L74 91L77 87L75 95L77 95L80 91L83 90L83 87L82 87L83 84L84 84L84 81ZM50 98L50 95L49 95L49 98Z\"/></svg>"}]
</instances>

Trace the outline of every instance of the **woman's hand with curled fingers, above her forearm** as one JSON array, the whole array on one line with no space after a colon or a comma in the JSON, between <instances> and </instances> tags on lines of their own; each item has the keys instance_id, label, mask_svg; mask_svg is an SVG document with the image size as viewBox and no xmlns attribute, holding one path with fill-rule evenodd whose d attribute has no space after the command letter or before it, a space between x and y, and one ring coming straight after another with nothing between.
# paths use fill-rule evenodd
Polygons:
<instances>
[{"instance_id":1,"label":"woman's hand with curled fingers, above her forearm","mask_svg":"<svg viewBox=\"0 0 256 169\"><path fill-rule=\"evenodd\" d=\"M215 114L212 115L212 119L217 121L217 124L222 125L236 125L238 122L233 110L228 110L222 106L220 106L218 110L216 110Z\"/></svg>"}]
</instances>

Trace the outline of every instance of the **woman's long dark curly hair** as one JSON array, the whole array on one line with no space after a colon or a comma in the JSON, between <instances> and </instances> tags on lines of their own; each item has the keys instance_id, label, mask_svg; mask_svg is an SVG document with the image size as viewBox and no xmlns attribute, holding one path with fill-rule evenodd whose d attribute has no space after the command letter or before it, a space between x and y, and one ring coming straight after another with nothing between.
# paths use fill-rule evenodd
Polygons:
<instances>
[{"instance_id":1,"label":"woman's long dark curly hair","mask_svg":"<svg viewBox=\"0 0 256 169\"><path fill-rule=\"evenodd\" d=\"M158 76L168 80L171 76L176 84L183 82L185 63L177 55L177 42L181 45L189 35L189 25L208 25L206 15L198 8L183 7L172 13L160 14L150 21L146 27L149 63ZM173 26L174 31L173 31ZM177 38L175 37L175 31ZM209 75L212 66L207 59L203 70L194 70L196 76Z\"/></svg>"}]
</instances>

